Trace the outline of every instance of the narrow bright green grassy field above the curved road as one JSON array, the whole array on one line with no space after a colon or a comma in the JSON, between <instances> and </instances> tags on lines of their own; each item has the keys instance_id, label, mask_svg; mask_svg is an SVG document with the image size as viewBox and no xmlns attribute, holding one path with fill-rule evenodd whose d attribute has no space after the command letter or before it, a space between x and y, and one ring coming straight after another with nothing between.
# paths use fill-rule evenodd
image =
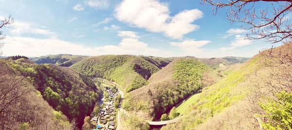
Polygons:
<instances>
[{"instance_id":1,"label":"narrow bright green grassy field above the curved road","mask_svg":"<svg viewBox=\"0 0 292 130\"><path fill-rule=\"evenodd\" d=\"M197 100L198 97L200 97L201 93L192 95L191 97L189 97L188 99L186 99L185 101L183 101L183 103L179 104L176 108L176 111L178 113L180 113L180 115L183 115L184 112L190 108L192 106L192 104Z\"/></svg>"}]
</instances>

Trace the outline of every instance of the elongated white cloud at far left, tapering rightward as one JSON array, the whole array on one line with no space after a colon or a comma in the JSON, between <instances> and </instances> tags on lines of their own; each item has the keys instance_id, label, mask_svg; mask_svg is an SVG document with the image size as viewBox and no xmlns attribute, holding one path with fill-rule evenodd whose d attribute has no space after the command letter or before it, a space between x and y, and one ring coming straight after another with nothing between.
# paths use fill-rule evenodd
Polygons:
<instances>
[{"instance_id":1,"label":"elongated white cloud at far left, tapering rightward","mask_svg":"<svg viewBox=\"0 0 292 130\"><path fill-rule=\"evenodd\" d=\"M21 22L21 21L16 21L13 24L13 28L10 30L10 32L13 35L21 35L22 33L32 33L32 34L41 34L49 37L56 37L57 33L52 32L51 30L48 29L38 29L33 27L33 23L27 23L27 22Z\"/></svg>"}]
</instances>

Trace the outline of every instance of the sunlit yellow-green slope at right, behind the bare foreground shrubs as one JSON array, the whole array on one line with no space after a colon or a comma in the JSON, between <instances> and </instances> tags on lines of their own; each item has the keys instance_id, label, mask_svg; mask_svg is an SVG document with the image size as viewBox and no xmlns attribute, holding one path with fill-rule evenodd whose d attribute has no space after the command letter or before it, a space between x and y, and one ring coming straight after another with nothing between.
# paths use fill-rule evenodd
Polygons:
<instances>
[{"instance_id":1,"label":"sunlit yellow-green slope at right, behind the bare foreground shrubs","mask_svg":"<svg viewBox=\"0 0 292 130\"><path fill-rule=\"evenodd\" d=\"M249 130L256 129L256 119L253 114L244 111L248 103L243 99L251 86L248 77L260 68L260 58L256 55L216 84L205 87L195 99L186 101L191 107L183 113L183 119L173 125L167 125L162 130L238 129L238 122L235 122L238 119L240 125L248 126ZM247 118L249 119L246 120ZM234 122L222 123L224 120Z\"/></svg>"}]
</instances>

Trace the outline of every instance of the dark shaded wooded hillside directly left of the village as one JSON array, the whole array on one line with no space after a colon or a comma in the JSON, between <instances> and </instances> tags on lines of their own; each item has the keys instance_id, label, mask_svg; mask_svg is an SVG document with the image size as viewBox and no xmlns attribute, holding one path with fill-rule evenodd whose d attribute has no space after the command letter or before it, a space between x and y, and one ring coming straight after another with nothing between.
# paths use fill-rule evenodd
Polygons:
<instances>
[{"instance_id":1,"label":"dark shaded wooded hillside directly left of the village","mask_svg":"<svg viewBox=\"0 0 292 130\"><path fill-rule=\"evenodd\" d=\"M56 111L61 111L70 121L76 119L79 128L100 99L101 92L93 81L70 68L35 64L24 58L9 60L9 65L20 72Z\"/></svg>"}]
</instances>

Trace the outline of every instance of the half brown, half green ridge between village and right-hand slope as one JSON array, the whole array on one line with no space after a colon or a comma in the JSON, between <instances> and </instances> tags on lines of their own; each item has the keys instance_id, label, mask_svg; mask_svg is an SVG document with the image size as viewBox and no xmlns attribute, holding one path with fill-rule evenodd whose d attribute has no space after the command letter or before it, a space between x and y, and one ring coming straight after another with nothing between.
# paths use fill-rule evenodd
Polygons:
<instances>
[{"instance_id":1,"label":"half brown, half green ridge between village and right-hand slope","mask_svg":"<svg viewBox=\"0 0 292 130\"><path fill-rule=\"evenodd\" d=\"M154 73L148 85L128 93L123 108L143 114L146 118L159 119L176 103L198 92L206 82L212 82L205 79L212 79L208 74L212 72L216 73L194 58L175 59Z\"/></svg>"}]
</instances>

